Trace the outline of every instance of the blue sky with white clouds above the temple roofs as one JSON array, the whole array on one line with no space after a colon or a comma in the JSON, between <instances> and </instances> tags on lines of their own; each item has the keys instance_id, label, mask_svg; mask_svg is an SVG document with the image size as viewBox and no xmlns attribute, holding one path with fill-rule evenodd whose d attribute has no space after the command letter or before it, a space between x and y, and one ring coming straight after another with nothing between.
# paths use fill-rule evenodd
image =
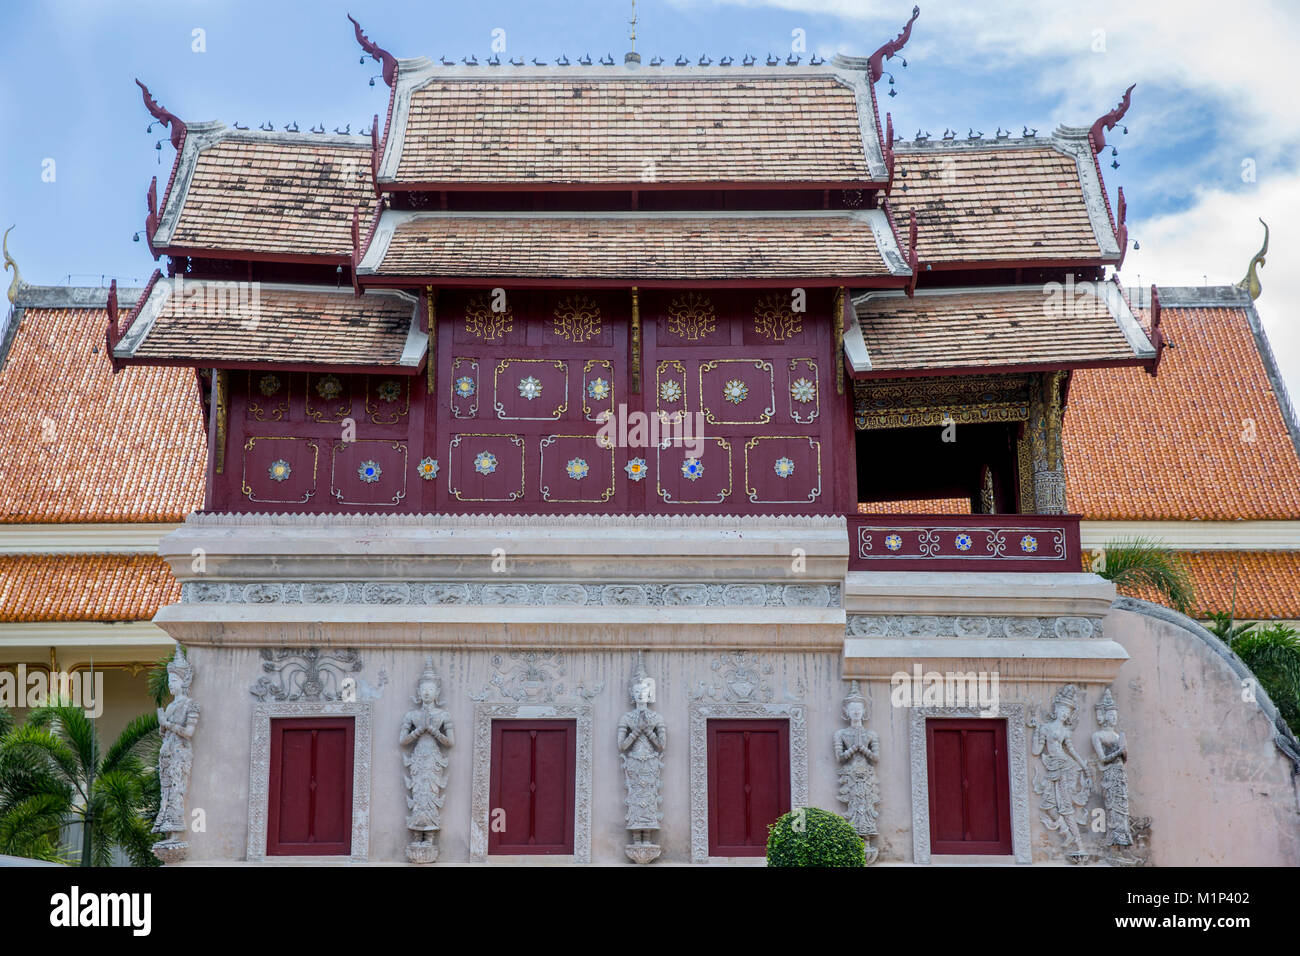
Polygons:
<instances>
[{"instance_id":1,"label":"blue sky with white clouds above the temple roofs","mask_svg":"<svg viewBox=\"0 0 1300 956\"><path fill-rule=\"evenodd\" d=\"M1260 311L1292 394L1300 393L1300 51L1296 4L1252 3L1239 16L1191 3L920 4L907 68L892 61L898 95L878 90L896 130L936 137L945 127L992 137L997 126L1048 134L1087 125L1136 82L1128 135L1112 135L1119 169L1105 172L1114 200L1124 186L1130 252L1123 278L1143 284L1231 282L1273 226ZM790 49L866 55L897 34L910 3L878 0L641 0L637 48L740 57ZM369 125L387 88L358 62L346 14L398 56L460 59L490 53L506 30L507 55L552 60L627 49L630 3L286 3L280 0L8 0L0 57L0 228L36 284L131 285L153 261L131 235L144 221L150 177L165 185L173 151L150 116L135 77L185 120L256 126L296 121L306 130ZM204 52L195 52L202 30ZM1109 152L1109 151L1108 151ZM53 181L47 182L53 160ZM160 161L161 160L161 161ZM1108 155L1106 161L1110 161ZM1249 169L1251 174L1245 174Z\"/></svg>"}]
</instances>

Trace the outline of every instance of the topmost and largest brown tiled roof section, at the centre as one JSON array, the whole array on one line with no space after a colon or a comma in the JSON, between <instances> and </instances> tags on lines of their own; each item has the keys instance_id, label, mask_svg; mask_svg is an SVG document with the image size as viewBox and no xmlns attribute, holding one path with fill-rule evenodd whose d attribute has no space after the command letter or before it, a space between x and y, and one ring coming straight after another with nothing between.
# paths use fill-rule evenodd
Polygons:
<instances>
[{"instance_id":1,"label":"topmost and largest brown tiled roof section, at the centre","mask_svg":"<svg viewBox=\"0 0 1300 956\"><path fill-rule=\"evenodd\" d=\"M870 104L863 108L870 113ZM393 177L523 185L871 179L857 98L824 74L436 77L411 95Z\"/></svg>"}]
</instances>

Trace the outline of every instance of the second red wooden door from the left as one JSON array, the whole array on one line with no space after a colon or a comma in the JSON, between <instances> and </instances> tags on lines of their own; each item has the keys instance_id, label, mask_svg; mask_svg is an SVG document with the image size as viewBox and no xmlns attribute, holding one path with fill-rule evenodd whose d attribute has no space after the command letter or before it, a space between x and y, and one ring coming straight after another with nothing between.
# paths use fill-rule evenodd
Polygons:
<instances>
[{"instance_id":1,"label":"second red wooden door from the left","mask_svg":"<svg viewBox=\"0 0 1300 956\"><path fill-rule=\"evenodd\" d=\"M489 853L572 853L576 721L493 721Z\"/></svg>"}]
</instances>

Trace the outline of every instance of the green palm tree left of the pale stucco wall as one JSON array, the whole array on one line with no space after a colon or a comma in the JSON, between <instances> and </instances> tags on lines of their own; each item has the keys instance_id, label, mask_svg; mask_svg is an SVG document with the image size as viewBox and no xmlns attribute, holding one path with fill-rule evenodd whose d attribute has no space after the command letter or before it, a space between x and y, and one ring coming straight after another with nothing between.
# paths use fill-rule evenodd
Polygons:
<instances>
[{"instance_id":1,"label":"green palm tree left of the pale stucco wall","mask_svg":"<svg viewBox=\"0 0 1300 956\"><path fill-rule=\"evenodd\" d=\"M157 714L142 714L103 750L77 706L36 708L10 726L0 737L0 853L69 862L60 834L81 822L82 866L108 866L114 848L157 865L147 816L159 799L157 731Z\"/></svg>"}]
</instances>

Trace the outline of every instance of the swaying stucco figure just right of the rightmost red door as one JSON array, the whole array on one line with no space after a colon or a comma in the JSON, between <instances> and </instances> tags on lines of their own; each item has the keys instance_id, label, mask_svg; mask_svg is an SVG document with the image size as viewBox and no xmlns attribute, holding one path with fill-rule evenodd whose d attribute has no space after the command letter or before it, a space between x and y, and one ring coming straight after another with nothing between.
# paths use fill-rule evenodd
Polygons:
<instances>
[{"instance_id":1,"label":"swaying stucco figure just right of the rightmost red door","mask_svg":"<svg viewBox=\"0 0 1300 956\"><path fill-rule=\"evenodd\" d=\"M1070 740L1078 710L1074 684L1066 684L1052 698L1046 719L1028 719L1034 728L1034 756L1041 760L1041 767L1034 774L1034 792L1043 797L1039 801L1043 826L1062 835L1066 853L1074 862L1087 856L1079 823L1087 822L1083 808L1092 791L1087 765Z\"/></svg>"}]
</instances>

